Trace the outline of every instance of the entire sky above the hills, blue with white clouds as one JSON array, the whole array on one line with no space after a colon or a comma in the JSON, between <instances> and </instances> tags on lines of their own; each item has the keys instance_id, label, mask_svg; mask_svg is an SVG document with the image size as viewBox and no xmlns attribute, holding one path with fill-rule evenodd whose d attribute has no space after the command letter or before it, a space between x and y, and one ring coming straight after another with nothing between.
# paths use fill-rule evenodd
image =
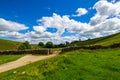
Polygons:
<instances>
[{"instance_id":1,"label":"entire sky above the hills, blue with white clouds","mask_svg":"<svg viewBox=\"0 0 120 80\"><path fill-rule=\"evenodd\" d=\"M0 0L0 38L64 43L110 35L120 29L114 25L120 20L119 4L119 0ZM104 30L103 25L108 27Z\"/></svg>"}]
</instances>

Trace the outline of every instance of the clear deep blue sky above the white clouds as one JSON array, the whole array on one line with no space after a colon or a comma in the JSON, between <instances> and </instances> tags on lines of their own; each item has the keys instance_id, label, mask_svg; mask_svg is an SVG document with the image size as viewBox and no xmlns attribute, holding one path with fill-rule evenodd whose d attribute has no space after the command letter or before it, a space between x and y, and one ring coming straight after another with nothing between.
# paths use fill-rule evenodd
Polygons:
<instances>
[{"instance_id":1,"label":"clear deep blue sky above the white clouds","mask_svg":"<svg viewBox=\"0 0 120 80\"><path fill-rule=\"evenodd\" d=\"M76 9L93 7L98 0L0 0L0 17L6 20L16 21L27 26L37 25L36 20L43 16L72 15ZM95 13L91 11L84 17L75 20L88 22Z\"/></svg>"}]
</instances>

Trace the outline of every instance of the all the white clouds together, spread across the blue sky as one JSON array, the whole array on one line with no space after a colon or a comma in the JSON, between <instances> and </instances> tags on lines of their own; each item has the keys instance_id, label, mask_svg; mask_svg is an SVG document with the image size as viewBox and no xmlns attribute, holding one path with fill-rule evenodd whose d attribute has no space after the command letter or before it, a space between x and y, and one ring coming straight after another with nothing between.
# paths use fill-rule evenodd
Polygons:
<instances>
[{"instance_id":1,"label":"all the white clouds together, spread across the blue sky","mask_svg":"<svg viewBox=\"0 0 120 80\"><path fill-rule=\"evenodd\" d=\"M28 29L24 24L0 18L0 37L8 37L16 41L28 40L31 43L52 41L58 44L120 32L120 2L113 2L107 0L96 2L93 6L96 13L88 23L76 21L67 15L60 16L53 13L50 17L44 16L37 20L38 25L33 26L33 30L26 33L19 32ZM82 16L87 14L88 11L85 8L78 8L76 12L77 14L72 16ZM55 28L57 31L51 33L47 31L48 28ZM75 34L64 35L66 30L68 33Z\"/></svg>"}]
</instances>

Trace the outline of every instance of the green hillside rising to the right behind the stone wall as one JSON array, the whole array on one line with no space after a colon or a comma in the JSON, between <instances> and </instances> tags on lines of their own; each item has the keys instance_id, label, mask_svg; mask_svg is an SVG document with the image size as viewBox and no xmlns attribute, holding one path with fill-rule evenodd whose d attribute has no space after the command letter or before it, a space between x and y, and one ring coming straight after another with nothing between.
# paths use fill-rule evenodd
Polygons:
<instances>
[{"instance_id":1,"label":"green hillside rising to the right behind the stone wall","mask_svg":"<svg viewBox=\"0 0 120 80\"><path fill-rule=\"evenodd\" d=\"M71 45L95 45L95 44L100 44L100 45L110 45L116 42L120 42L120 33L113 34L110 36L105 36L105 37L100 37L100 38L95 38L95 39L89 39L86 41L74 41L71 43Z\"/></svg>"}]
</instances>

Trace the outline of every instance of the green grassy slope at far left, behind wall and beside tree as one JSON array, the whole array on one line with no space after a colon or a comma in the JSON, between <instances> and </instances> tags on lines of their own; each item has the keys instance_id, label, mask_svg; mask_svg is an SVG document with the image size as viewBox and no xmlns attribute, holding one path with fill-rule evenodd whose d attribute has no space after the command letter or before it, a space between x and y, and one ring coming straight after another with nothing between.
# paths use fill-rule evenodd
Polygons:
<instances>
[{"instance_id":1,"label":"green grassy slope at far left, behind wall and beside tree","mask_svg":"<svg viewBox=\"0 0 120 80\"><path fill-rule=\"evenodd\" d=\"M0 39L0 50L15 50L20 44L20 42Z\"/></svg>"}]
</instances>

